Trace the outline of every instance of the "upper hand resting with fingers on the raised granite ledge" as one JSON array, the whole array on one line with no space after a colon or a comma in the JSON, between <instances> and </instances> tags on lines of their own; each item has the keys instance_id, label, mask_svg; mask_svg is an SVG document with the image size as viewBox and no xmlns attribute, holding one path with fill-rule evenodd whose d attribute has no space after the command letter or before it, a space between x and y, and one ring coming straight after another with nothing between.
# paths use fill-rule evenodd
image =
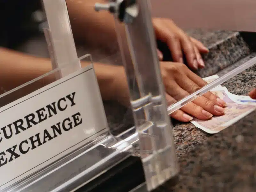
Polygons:
<instances>
[{"instance_id":1,"label":"upper hand resting with fingers on the raised granite ledge","mask_svg":"<svg viewBox=\"0 0 256 192\"><path fill-rule=\"evenodd\" d=\"M209 50L201 42L189 37L170 19L153 18L153 26L156 38L168 45L174 62L184 63L182 53L184 52L190 68L204 68L200 53L208 53ZM161 52L157 50L157 53L159 59L162 60Z\"/></svg>"}]
</instances>

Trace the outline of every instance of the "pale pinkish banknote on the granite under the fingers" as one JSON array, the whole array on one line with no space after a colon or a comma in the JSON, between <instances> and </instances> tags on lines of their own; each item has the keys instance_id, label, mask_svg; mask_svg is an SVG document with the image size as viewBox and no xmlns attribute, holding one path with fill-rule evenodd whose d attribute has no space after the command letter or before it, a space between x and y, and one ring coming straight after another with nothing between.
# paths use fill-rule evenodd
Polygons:
<instances>
[{"instance_id":1,"label":"pale pinkish banknote on the granite under the fingers","mask_svg":"<svg viewBox=\"0 0 256 192\"><path fill-rule=\"evenodd\" d=\"M207 133L214 134L220 132L256 109L256 106L248 104L244 105L234 101L234 99L229 97L226 89L211 92L224 100L227 103L227 107L225 108L225 114L222 116L213 116L209 120L199 120L194 118L191 121L192 124Z\"/></svg>"}]
</instances>

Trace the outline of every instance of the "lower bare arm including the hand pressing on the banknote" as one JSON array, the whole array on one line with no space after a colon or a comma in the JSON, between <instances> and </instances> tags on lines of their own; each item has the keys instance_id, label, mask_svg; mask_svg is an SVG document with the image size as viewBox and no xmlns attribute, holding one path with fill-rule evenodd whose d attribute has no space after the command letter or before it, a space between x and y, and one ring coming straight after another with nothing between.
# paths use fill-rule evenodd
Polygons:
<instances>
[{"instance_id":1,"label":"lower bare arm including the hand pressing on the banknote","mask_svg":"<svg viewBox=\"0 0 256 192\"><path fill-rule=\"evenodd\" d=\"M86 62L81 64L82 66L88 65ZM184 64L161 62L160 67L164 76L163 80L168 93L167 101L170 102L169 104L193 92L194 87L198 89L206 84ZM24 84L47 73L51 68L49 59L28 56L0 48L0 87L4 87L4 89L10 90ZM122 66L94 63L94 69L103 100L118 100L122 104L129 105L129 92L124 68ZM180 76L183 78L180 79ZM49 82L52 81L52 79L48 80ZM184 87L184 85L187 86ZM224 106L224 101L217 100L215 95L208 92L184 106L181 110L176 111L172 116L180 121L188 122L192 118L186 114L188 113L196 118L207 120L212 115L222 115L224 111L222 107Z\"/></svg>"}]
</instances>

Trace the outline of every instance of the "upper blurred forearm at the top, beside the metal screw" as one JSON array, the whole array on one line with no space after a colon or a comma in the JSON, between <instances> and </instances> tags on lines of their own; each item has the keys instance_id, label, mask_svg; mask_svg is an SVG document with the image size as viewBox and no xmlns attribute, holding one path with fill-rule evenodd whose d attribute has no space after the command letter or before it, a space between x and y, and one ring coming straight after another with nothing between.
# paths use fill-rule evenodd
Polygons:
<instances>
[{"instance_id":1,"label":"upper blurred forearm at the top, beside the metal screw","mask_svg":"<svg viewBox=\"0 0 256 192\"><path fill-rule=\"evenodd\" d=\"M106 3L108 0L66 0L66 2L76 40L99 46L109 45L116 40L113 15L106 11L94 10L95 3Z\"/></svg>"}]
</instances>

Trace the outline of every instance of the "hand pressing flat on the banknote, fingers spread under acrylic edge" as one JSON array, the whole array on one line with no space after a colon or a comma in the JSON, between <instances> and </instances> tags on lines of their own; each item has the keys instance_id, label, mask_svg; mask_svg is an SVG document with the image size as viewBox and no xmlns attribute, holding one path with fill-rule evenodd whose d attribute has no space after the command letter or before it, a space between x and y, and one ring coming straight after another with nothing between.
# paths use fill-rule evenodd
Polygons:
<instances>
[{"instance_id":1,"label":"hand pressing flat on the banknote, fingers spread under acrylic edge","mask_svg":"<svg viewBox=\"0 0 256 192\"><path fill-rule=\"evenodd\" d=\"M166 90L168 105L183 99L207 83L181 63L161 62L161 72ZM211 92L205 93L193 102L188 103L171 116L179 121L188 122L195 116L201 120L224 114L226 103ZM188 115L189 114L189 115Z\"/></svg>"}]
</instances>

